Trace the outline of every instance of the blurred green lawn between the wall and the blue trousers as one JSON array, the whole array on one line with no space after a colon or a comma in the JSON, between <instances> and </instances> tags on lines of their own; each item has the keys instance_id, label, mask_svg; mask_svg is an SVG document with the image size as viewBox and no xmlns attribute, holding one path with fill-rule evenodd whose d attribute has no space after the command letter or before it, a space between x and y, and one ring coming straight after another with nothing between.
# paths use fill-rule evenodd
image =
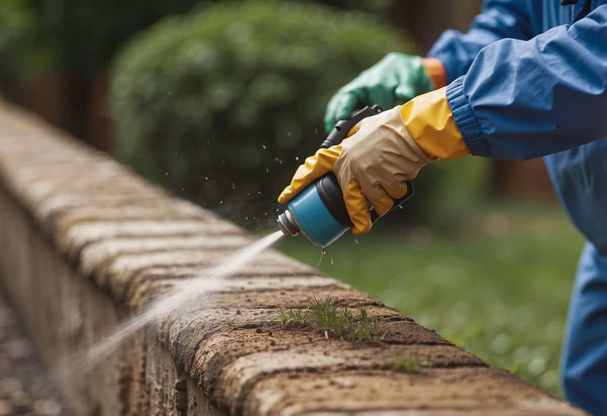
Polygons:
<instances>
[{"instance_id":1,"label":"blurred green lawn between the wall and the blue trousers","mask_svg":"<svg viewBox=\"0 0 607 416\"><path fill-rule=\"evenodd\" d=\"M328 247L319 268L560 395L558 357L582 237L555 204L477 207L458 224L440 232L380 221L368 235L348 233ZM278 248L313 266L320 258L302 236Z\"/></svg>"}]
</instances>

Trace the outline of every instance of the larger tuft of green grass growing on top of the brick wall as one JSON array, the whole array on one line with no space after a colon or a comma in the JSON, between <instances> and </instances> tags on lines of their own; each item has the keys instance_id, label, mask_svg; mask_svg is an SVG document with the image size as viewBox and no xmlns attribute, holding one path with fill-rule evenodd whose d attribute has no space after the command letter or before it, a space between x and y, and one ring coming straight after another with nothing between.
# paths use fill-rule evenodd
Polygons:
<instances>
[{"instance_id":1,"label":"larger tuft of green grass growing on top of the brick wall","mask_svg":"<svg viewBox=\"0 0 607 416\"><path fill-rule=\"evenodd\" d=\"M382 335L379 321L368 317L367 310L359 307L356 313L328 294L327 297L308 297L305 309L276 311L286 326L310 327L322 332L325 338L341 338L351 342L370 341ZM385 334L384 334L385 335Z\"/></svg>"}]
</instances>

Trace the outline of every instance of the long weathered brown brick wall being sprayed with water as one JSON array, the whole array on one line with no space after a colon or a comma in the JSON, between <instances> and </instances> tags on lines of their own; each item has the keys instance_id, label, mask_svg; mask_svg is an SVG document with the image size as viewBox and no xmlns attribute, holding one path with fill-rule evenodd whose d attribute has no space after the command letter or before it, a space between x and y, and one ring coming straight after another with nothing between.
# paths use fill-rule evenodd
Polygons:
<instances>
[{"instance_id":1,"label":"long weathered brown brick wall being sprayed with water","mask_svg":"<svg viewBox=\"0 0 607 416\"><path fill-rule=\"evenodd\" d=\"M253 241L7 104L0 213L0 283L49 367ZM366 307L387 335L352 344L283 327L273 310L299 306L312 290ZM424 360L407 374L393 369L398 357ZM87 377L59 370L76 414L580 413L273 250L203 304L138 332Z\"/></svg>"}]
</instances>

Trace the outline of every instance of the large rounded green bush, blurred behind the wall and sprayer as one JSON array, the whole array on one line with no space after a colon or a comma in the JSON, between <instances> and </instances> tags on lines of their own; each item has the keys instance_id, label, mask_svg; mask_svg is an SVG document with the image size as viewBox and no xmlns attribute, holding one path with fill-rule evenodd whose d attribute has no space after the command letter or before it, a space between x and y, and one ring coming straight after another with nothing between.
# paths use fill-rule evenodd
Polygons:
<instances>
[{"instance_id":1,"label":"large rounded green bush, blurred behind the wall and sprayer","mask_svg":"<svg viewBox=\"0 0 607 416\"><path fill-rule=\"evenodd\" d=\"M316 4L222 3L165 19L115 65L120 157L242 223L268 212L316 150L331 93L409 49L370 15Z\"/></svg>"}]
</instances>

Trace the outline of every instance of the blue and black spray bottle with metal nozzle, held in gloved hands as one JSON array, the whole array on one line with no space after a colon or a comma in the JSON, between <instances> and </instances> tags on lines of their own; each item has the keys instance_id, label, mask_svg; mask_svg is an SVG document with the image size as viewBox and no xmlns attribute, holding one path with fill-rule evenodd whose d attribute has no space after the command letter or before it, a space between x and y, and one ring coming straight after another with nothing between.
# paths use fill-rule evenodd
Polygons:
<instances>
[{"instance_id":1,"label":"blue and black spray bottle with metal nozzle, held in gloved hands","mask_svg":"<svg viewBox=\"0 0 607 416\"><path fill-rule=\"evenodd\" d=\"M351 118L339 120L322 142L320 147L327 148L341 143L354 125L365 117L382 112L379 106L365 107ZM407 181L407 194L394 201L392 209L400 206L413 195L413 185ZM371 222L375 223L379 215L371 208ZM295 237L299 232L312 243L327 247L352 227L344 196L333 173L327 173L311 183L287 204L285 212L278 216L278 227L284 235Z\"/></svg>"}]
</instances>

